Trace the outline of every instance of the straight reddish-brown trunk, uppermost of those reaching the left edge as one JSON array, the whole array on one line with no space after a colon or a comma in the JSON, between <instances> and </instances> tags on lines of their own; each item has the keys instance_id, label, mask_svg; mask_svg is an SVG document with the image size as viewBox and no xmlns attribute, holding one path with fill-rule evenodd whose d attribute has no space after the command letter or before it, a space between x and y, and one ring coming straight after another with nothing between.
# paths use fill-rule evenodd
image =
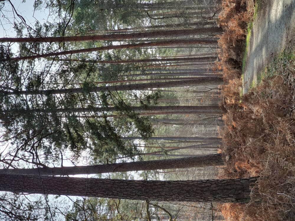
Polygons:
<instances>
[{"instance_id":1,"label":"straight reddish-brown trunk, uppermost of those reaching the left edge","mask_svg":"<svg viewBox=\"0 0 295 221\"><path fill-rule=\"evenodd\" d=\"M153 32L139 32L128 34L103 34L103 35L85 35L85 36L65 36L65 37L38 37L38 38L0 38L0 42L79 42L79 41L101 41L101 40L122 40L122 39L140 39L140 38L160 38L177 37L197 34L221 33L222 28L196 28L179 29Z\"/></svg>"}]
</instances>

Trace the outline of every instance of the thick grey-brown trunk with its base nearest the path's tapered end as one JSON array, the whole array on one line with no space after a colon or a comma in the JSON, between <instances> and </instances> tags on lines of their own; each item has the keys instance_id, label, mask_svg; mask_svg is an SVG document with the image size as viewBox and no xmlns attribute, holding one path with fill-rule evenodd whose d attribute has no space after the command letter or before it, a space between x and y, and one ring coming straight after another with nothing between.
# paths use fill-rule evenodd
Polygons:
<instances>
[{"instance_id":1,"label":"thick grey-brown trunk with its base nearest the path's tapered end","mask_svg":"<svg viewBox=\"0 0 295 221\"><path fill-rule=\"evenodd\" d=\"M119 91L119 90L143 90L147 88L173 88L173 87L185 87L185 86L208 86L208 85L220 85L222 80L219 77L199 77L195 80L180 80L180 81L167 81L156 83L142 83L142 84L129 84L129 85L114 85L114 86L101 86L89 88L89 92L99 91ZM4 91L0 90L0 93L6 95L33 95L33 94L72 94L83 93L84 88L69 88L69 89L52 89L52 90L23 90L23 91Z\"/></svg>"}]
</instances>

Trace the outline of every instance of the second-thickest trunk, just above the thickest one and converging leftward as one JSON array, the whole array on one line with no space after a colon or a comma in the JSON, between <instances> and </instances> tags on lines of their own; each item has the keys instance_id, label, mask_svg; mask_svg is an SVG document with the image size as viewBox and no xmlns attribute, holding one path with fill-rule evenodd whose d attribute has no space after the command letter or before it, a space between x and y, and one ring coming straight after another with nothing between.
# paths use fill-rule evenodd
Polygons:
<instances>
[{"instance_id":1,"label":"second-thickest trunk, just above the thickest one and converging leftward","mask_svg":"<svg viewBox=\"0 0 295 221\"><path fill-rule=\"evenodd\" d=\"M65 176L78 174L102 174L141 170L176 169L223 165L221 154L193 156L178 159L137 161L128 163L102 164L90 166L46 167L38 169L0 169L0 174L27 174L41 176Z\"/></svg>"}]
</instances>

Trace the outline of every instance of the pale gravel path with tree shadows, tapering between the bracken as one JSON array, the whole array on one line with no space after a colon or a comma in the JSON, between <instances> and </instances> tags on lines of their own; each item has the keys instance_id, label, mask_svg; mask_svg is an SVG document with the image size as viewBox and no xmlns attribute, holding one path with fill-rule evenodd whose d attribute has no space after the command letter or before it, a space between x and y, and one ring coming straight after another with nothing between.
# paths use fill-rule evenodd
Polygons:
<instances>
[{"instance_id":1,"label":"pale gravel path with tree shadows, tapering between the bracken","mask_svg":"<svg viewBox=\"0 0 295 221\"><path fill-rule=\"evenodd\" d=\"M295 44L295 0L262 0L261 5L251 30L243 93L274 56Z\"/></svg>"}]
</instances>

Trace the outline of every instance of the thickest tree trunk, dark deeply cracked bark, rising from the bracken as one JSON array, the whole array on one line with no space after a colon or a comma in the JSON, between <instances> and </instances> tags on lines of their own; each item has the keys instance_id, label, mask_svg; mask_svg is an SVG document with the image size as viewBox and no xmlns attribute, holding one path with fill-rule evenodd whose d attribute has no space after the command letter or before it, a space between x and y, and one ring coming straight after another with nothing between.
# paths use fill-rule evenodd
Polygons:
<instances>
[{"instance_id":1,"label":"thickest tree trunk, dark deeply cracked bark, rising from the bracken","mask_svg":"<svg viewBox=\"0 0 295 221\"><path fill-rule=\"evenodd\" d=\"M120 199L241 202L257 177L228 180L146 181L34 175L0 175L0 191Z\"/></svg>"}]
</instances>

